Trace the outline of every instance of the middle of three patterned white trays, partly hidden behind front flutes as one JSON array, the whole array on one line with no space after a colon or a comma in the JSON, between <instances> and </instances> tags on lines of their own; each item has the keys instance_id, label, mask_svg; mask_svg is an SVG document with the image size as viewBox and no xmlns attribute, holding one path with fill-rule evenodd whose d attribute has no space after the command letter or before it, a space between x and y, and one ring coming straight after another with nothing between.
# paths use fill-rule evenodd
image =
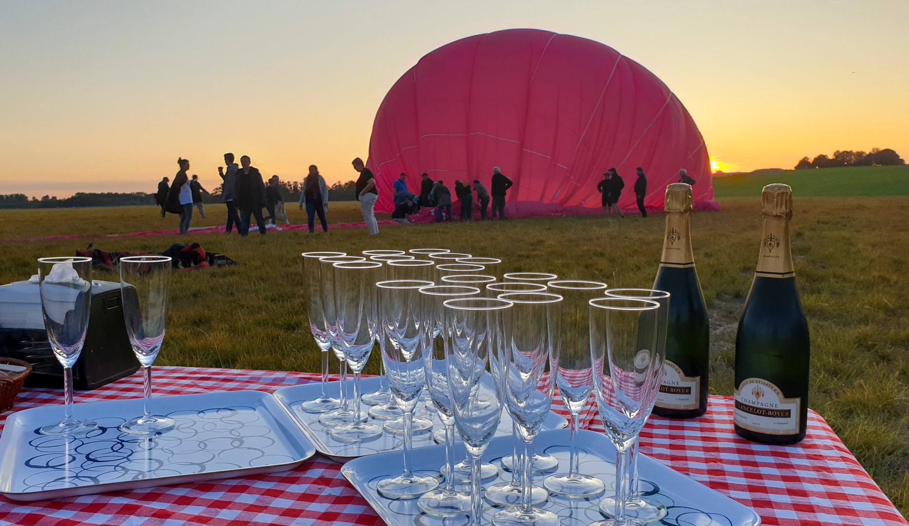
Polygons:
<instances>
[{"instance_id":1,"label":"middle of three patterned white trays, partly hidden behind front flutes","mask_svg":"<svg viewBox=\"0 0 909 526\"><path fill-rule=\"evenodd\" d=\"M364 378L360 381L360 392L375 392L379 389L379 378L377 376ZM353 386L353 380L348 382ZM326 385L329 396L337 398L341 392L340 382L329 382ZM309 400L315 400L322 394L322 387L319 382L304 383L301 385L292 385L275 391L275 398L285 406L288 412L294 415L294 419L299 424L300 429L313 442L315 449L335 458L339 461L349 460L364 455L373 455L375 453L401 451L402 435L390 432L383 432L382 435L375 439L364 442L342 442L335 440L328 434L329 427L319 423L319 413L305 412L300 409L300 404ZM347 395L353 397L353 388L347 390ZM365 403L361 405L361 411L366 412L369 406ZM422 416L433 421L433 429L428 432L414 433L414 449L435 445L433 432L442 428L442 422L439 421L438 413L435 411L426 411L424 402L417 402L415 416ZM382 425L384 421L375 420L369 417L369 422ZM549 412L549 416L543 423L544 430L559 429L568 425L568 421L555 412ZM502 422L496 432L498 435L511 436L512 421L507 412L502 412Z\"/></svg>"}]
</instances>

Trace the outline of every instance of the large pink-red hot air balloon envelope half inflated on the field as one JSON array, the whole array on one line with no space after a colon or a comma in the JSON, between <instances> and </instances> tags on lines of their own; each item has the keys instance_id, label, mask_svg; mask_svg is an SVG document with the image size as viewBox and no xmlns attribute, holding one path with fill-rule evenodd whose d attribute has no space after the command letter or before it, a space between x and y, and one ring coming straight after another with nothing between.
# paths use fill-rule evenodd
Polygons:
<instances>
[{"instance_id":1,"label":"large pink-red hot air balloon envelope half inflated on the field","mask_svg":"<svg viewBox=\"0 0 909 526\"><path fill-rule=\"evenodd\" d=\"M423 173L454 194L455 180L488 189L494 166L514 182L510 217L594 213L610 167L625 211L636 211L638 166L649 211L663 210L681 168L696 181L694 209L719 209L704 138L660 79L607 45L538 29L469 36L421 58L379 106L367 166L382 212L399 174L415 194Z\"/></svg>"}]
</instances>

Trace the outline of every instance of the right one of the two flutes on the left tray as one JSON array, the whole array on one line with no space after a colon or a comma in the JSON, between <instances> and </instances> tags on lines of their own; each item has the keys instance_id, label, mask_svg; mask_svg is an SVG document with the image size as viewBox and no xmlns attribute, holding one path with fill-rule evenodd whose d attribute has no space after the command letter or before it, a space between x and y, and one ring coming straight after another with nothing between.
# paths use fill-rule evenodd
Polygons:
<instances>
[{"instance_id":1,"label":"right one of the two flutes on the left tray","mask_svg":"<svg viewBox=\"0 0 909 526\"><path fill-rule=\"evenodd\" d=\"M163 255L127 256L120 258L117 264L120 267L126 334L145 372L143 415L125 422L120 430L139 435L164 432L173 428L176 422L172 418L155 416L148 404L152 398L152 363L165 340L171 258Z\"/></svg>"}]
</instances>

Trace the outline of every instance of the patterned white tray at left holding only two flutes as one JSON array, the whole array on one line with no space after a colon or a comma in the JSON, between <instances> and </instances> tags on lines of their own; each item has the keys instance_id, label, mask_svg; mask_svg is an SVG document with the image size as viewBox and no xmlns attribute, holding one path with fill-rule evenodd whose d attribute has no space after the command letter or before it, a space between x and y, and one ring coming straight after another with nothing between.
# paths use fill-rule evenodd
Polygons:
<instances>
[{"instance_id":1,"label":"patterned white tray at left holding only two flutes","mask_svg":"<svg viewBox=\"0 0 909 526\"><path fill-rule=\"evenodd\" d=\"M142 416L143 400L75 405L98 424L85 437L36 429L63 418L62 404L14 412L0 436L0 493L14 501L57 499L295 468L315 447L268 392L205 392L153 398L156 415L176 427L152 438L118 426ZM67 461L68 459L68 461Z\"/></svg>"}]
</instances>

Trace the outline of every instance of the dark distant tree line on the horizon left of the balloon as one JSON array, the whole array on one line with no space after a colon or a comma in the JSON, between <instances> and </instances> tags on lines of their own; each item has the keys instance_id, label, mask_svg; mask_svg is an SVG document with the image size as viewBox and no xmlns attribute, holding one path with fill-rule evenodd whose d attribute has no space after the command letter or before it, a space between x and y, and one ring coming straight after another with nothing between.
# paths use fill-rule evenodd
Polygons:
<instances>
[{"instance_id":1,"label":"dark distant tree line on the horizon left of the balloon","mask_svg":"<svg viewBox=\"0 0 909 526\"><path fill-rule=\"evenodd\" d=\"M303 183L285 181L281 183L281 194L285 202L297 202L303 192ZM331 201L355 201L355 182L335 183L328 187ZM221 203L221 184L211 192L202 194L204 203ZM58 199L53 195L45 195L40 199L25 194L0 194L0 208L79 208L85 206L131 206L136 204L155 204L155 194L144 192L93 194L77 192L72 197Z\"/></svg>"}]
</instances>

